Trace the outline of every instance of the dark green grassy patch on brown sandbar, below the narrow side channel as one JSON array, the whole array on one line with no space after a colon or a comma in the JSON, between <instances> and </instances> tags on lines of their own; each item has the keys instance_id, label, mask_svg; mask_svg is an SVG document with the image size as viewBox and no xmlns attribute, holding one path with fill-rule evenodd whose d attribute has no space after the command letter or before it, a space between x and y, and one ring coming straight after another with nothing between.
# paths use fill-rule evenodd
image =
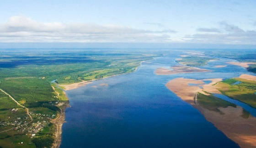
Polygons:
<instances>
[{"instance_id":1,"label":"dark green grassy patch on brown sandbar, below the narrow side channel","mask_svg":"<svg viewBox=\"0 0 256 148\"><path fill-rule=\"evenodd\" d=\"M228 107L233 106L236 107L235 104L230 103L228 101L222 100L220 98L217 98L213 95L203 95L201 93L198 93L197 95L197 101L200 104L200 106L203 106L204 108L210 110L210 111L216 111L220 114L223 114L218 108L219 107Z\"/></svg>"}]
</instances>

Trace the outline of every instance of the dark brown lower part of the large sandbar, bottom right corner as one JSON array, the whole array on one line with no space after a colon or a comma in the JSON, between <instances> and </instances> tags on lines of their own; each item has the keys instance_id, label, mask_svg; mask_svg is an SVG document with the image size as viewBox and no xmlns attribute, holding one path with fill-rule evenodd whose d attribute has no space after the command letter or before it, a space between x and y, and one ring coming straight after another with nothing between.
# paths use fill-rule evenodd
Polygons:
<instances>
[{"instance_id":1,"label":"dark brown lower part of the large sandbar, bottom right corner","mask_svg":"<svg viewBox=\"0 0 256 148\"><path fill-rule=\"evenodd\" d=\"M210 111L201 106L197 106L203 113L206 120L212 122L215 127L239 144L241 148L256 148L256 118L249 116L243 118L243 108L240 106L226 108L219 107L224 114Z\"/></svg>"}]
</instances>

